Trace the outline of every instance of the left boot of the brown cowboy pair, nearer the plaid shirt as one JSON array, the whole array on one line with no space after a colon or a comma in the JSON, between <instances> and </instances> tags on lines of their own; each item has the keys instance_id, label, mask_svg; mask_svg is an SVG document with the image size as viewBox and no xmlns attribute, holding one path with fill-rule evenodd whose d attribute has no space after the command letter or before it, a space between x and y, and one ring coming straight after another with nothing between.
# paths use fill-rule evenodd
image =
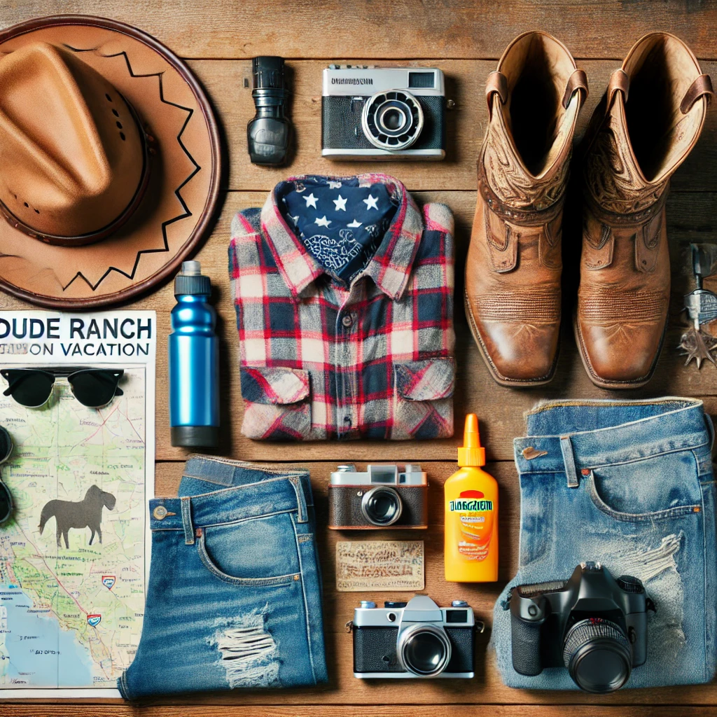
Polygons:
<instances>
[{"instance_id":1,"label":"left boot of the brown cowboy pair, nearer the plaid shirt","mask_svg":"<svg viewBox=\"0 0 717 717\"><path fill-rule=\"evenodd\" d=\"M538 386L558 354L563 200L587 77L564 44L526 32L505 49L485 95L465 308L493 378Z\"/></svg>"}]
</instances>

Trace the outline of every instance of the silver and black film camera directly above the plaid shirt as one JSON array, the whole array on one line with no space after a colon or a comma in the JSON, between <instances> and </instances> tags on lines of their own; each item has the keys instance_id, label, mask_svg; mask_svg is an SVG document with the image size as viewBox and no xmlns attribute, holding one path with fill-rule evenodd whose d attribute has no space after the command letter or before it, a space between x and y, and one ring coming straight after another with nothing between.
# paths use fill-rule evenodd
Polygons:
<instances>
[{"instance_id":1,"label":"silver and black film camera directly above the plaid shirt","mask_svg":"<svg viewBox=\"0 0 717 717\"><path fill-rule=\"evenodd\" d=\"M432 67L329 65L321 154L331 159L443 159L445 87Z\"/></svg>"}]
</instances>

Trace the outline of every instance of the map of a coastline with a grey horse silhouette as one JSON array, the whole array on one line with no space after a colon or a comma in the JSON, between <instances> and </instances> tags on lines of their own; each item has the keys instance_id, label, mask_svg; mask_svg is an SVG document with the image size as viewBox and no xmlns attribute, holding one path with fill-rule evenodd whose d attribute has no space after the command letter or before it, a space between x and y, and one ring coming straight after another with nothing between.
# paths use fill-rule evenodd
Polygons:
<instances>
[{"instance_id":1,"label":"map of a coastline with a grey horse silhouette","mask_svg":"<svg viewBox=\"0 0 717 717\"><path fill-rule=\"evenodd\" d=\"M145 378L144 367L125 369L123 396L100 409L80 404L65 379L42 409L0 396L14 442L0 472L15 503L0 527L0 688L114 688L133 659L145 588ZM90 518L67 530L66 547L57 521L68 510ZM92 516L101 542L90 544Z\"/></svg>"}]
</instances>

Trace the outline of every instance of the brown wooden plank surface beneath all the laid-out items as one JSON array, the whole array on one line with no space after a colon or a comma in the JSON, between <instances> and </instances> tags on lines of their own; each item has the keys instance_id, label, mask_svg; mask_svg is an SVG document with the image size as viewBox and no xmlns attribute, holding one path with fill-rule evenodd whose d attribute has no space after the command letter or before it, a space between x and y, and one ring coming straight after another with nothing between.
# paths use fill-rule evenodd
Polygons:
<instances>
[{"instance_id":1,"label":"brown wooden plank surface beneath all the laid-out items","mask_svg":"<svg viewBox=\"0 0 717 717\"><path fill-rule=\"evenodd\" d=\"M272 460L277 445L252 442L239 432L242 400L237 370L237 334L227 277L229 223L237 209L260 206L267 191L288 174L304 172L353 174L376 169L368 163L331 163L320 158L320 73L328 61L371 62L440 67L446 75L447 95L455 109L447 114L447 159L441 163L385 163L378 166L404 181L419 201L445 201L456 217L458 383L456 427L462 417L477 412L488 457L488 470L500 483L500 581L494 585L446 584L442 579L442 483L455 467L459 439L433 442L313 443L283 446L280 457L308 465L318 505L320 524L326 522L328 477L338 462L366 460L404 462L420 460L429 473L431 527L426 541L427 592L439 602L463 597L478 617L490 625L495 597L516 570L519 491L512 462L513 437L521 435L523 412L542 398L610 397L587 378L566 320L556 379L541 389L516 390L490 379L473 345L462 313L462 270L475 207L475 161L485 129L483 100L485 76L505 45L527 29L552 32L569 47L579 67L587 71L591 95L581 113L579 135L602 95L610 72L645 32L675 32L702 62L703 71L717 79L717 3L710 0L0 0L0 27L54 13L101 14L123 20L149 32L189 60L217 108L229 154L224 206L197 258L212 277L222 338L222 446L220 453L246 460ZM297 152L289 168L252 166L246 151L246 123L254 113L249 78L250 58L256 54L287 57L293 80L292 115ZM686 323L680 313L682 295L692 288L687 262L690 242L715 241L717 222L717 112L708 115L701 141L673 180L668 200L668 232L673 261L673 303L670 330L657 374L629 397L665 394L701 397L708 412L717 413L717 370L694 365L683 368L675 349ZM0 168L1 171L1 168ZM576 181L571 189L579 193ZM580 234L578 201L569 202L564 227L564 316L574 307ZM166 397L166 334L174 304L170 285L133 303L132 308L158 313L157 493L174 495L186 452L168 440ZM0 309L26 308L19 300L0 294ZM356 537L351 533L344 537ZM404 537L399 532L376 537ZM415 534L409 536L415 538ZM275 690L254 693L186 695L153 701L141 708L121 703L43 705L0 703L4 716L107 717L146 716L224 717L229 714L267 717L336 714L386 716L396 706L417 717L702 717L717 714L717 685L652 690L622 690L596 697L579 692L541 693L505 688L486 651L488 636L480 638L475 680L364 683L351 675L351 637L343 624L352 616L360 594L338 594L333 589L333 549L338 536L320 530L325 577L327 658L331 681L319 690Z\"/></svg>"}]
</instances>

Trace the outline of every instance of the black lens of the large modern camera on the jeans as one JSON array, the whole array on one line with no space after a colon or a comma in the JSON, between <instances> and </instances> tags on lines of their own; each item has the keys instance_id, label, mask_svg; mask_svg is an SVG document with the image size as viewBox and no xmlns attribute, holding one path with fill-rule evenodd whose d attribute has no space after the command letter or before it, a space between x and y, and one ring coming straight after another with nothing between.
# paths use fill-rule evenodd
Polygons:
<instances>
[{"instance_id":1,"label":"black lens of the large modern camera on the jeans","mask_svg":"<svg viewBox=\"0 0 717 717\"><path fill-rule=\"evenodd\" d=\"M576 622L565 636L563 660L581 690L608 693L630 678L632 657L625 631L599 617Z\"/></svg>"}]
</instances>

